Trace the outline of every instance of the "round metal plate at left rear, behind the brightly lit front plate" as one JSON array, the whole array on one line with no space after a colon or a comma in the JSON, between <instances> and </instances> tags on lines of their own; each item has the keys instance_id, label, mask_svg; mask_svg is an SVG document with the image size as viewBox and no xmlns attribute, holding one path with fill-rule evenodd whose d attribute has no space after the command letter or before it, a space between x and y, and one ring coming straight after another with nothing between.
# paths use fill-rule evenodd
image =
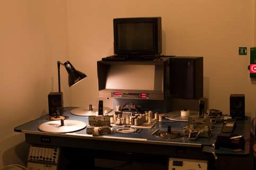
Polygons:
<instances>
[{"instance_id":1,"label":"round metal plate at left rear, behind the brightly lit front plate","mask_svg":"<svg viewBox=\"0 0 256 170\"><path fill-rule=\"evenodd\" d=\"M86 107L75 108L70 111L71 114L76 116L97 116L98 115L98 107L92 107L92 110ZM108 107L103 107L103 114L108 114L112 109Z\"/></svg>"}]
</instances>

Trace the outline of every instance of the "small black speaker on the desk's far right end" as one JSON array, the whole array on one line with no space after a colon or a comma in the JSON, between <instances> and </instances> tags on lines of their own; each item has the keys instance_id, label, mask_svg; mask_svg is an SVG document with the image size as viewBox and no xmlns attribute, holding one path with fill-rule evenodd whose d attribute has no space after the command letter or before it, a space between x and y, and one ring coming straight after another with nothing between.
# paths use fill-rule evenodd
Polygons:
<instances>
[{"instance_id":1,"label":"small black speaker on the desk's far right end","mask_svg":"<svg viewBox=\"0 0 256 170\"><path fill-rule=\"evenodd\" d=\"M230 116L236 119L245 118L245 97L243 94L231 94L229 97Z\"/></svg>"}]
</instances>

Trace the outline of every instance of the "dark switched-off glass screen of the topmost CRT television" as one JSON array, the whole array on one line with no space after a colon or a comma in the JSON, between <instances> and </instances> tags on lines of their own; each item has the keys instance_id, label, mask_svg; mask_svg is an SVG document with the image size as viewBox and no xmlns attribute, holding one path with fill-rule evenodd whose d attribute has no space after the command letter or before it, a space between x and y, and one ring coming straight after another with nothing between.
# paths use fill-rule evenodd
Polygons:
<instances>
[{"instance_id":1,"label":"dark switched-off glass screen of the topmost CRT television","mask_svg":"<svg viewBox=\"0 0 256 170\"><path fill-rule=\"evenodd\" d=\"M154 50L153 23L119 23L119 50Z\"/></svg>"}]
</instances>

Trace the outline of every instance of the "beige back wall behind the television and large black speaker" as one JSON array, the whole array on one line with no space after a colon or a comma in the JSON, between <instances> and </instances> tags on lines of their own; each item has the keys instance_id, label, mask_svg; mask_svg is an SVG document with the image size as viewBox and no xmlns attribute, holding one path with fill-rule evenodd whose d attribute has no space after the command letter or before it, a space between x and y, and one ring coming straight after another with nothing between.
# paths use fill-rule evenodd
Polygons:
<instances>
[{"instance_id":1,"label":"beige back wall behind the television and large black speaker","mask_svg":"<svg viewBox=\"0 0 256 170\"><path fill-rule=\"evenodd\" d=\"M256 87L247 70L250 55L238 55L239 46L249 50L253 45L253 0L67 0L68 56L88 74L72 89L73 105L97 105L96 61L113 54L113 18L139 16L162 17L163 54L204 56L209 108L228 114L229 95L244 93L246 115L254 115Z\"/></svg>"}]
</instances>

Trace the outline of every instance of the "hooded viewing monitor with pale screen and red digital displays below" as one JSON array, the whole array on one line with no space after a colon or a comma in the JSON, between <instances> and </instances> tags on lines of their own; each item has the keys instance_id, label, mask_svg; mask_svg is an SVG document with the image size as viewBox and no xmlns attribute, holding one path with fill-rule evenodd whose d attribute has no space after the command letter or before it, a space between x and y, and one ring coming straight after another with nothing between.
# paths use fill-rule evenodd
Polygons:
<instances>
[{"instance_id":1,"label":"hooded viewing monitor with pale screen and red digital displays below","mask_svg":"<svg viewBox=\"0 0 256 170\"><path fill-rule=\"evenodd\" d=\"M164 100L167 59L98 61L99 97Z\"/></svg>"}]
</instances>

